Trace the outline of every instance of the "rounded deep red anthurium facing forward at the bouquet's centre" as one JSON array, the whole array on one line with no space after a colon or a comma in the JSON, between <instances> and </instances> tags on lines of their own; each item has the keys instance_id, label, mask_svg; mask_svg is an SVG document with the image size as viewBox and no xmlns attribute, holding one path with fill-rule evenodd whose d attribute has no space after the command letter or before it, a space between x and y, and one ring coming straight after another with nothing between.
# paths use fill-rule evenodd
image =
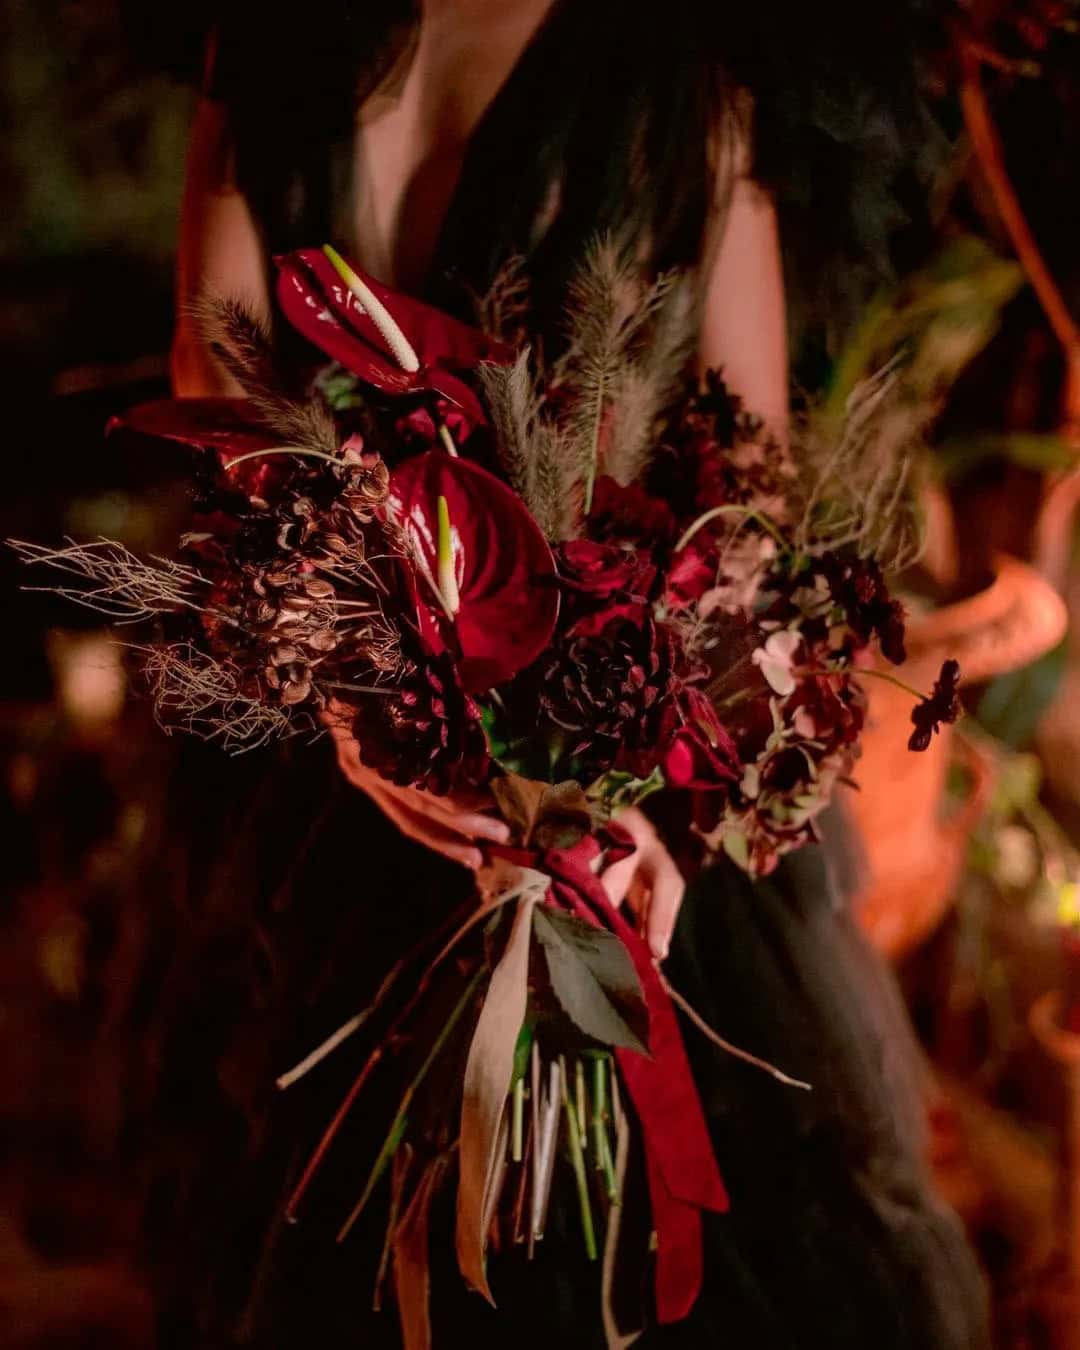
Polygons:
<instances>
[{"instance_id":1,"label":"rounded deep red anthurium facing forward at the bouquet's centre","mask_svg":"<svg viewBox=\"0 0 1080 1350\"><path fill-rule=\"evenodd\" d=\"M532 664L555 630L559 594L521 500L479 464L429 450L393 471L389 508L421 574L421 628L447 634L466 693Z\"/></svg>"}]
</instances>

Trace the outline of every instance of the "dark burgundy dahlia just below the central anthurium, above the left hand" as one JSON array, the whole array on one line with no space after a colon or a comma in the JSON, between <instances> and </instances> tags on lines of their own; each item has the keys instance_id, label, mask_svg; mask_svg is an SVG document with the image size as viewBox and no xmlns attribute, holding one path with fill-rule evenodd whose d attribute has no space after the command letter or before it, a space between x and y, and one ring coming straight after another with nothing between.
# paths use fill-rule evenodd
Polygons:
<instances>
[{"instance_id":1,"label":"dark burgundy dahlia just below the central anthurium, above the left hand","mask_svg":"<svg viewBox=\"0 0 1080 1350\"><path fill-rule=\"evenodd\" d=\"M447 655L428 656L385 695L363 695L352 734L363 761L400 787L446 794L487 782L481 710Z\"/></svg>"}]
</instances>

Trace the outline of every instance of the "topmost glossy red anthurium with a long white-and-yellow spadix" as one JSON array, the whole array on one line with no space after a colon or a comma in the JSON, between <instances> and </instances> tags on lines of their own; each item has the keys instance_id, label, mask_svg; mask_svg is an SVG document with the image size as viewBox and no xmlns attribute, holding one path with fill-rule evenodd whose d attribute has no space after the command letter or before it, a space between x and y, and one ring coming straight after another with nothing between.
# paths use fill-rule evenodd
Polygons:
<instances>
[{"instance_id":1,"label":"topmost glossy red anthurium with a long white-and-yellow spadix","mask_svg":"<svg viewBox=\"0 0 1080 1350\"><path fill-rule=\"evenodd\" d=\"M460 378L510 351L475 328L401 296L346 262L333 248L300 248L275 259L278 301L289 323L354 375L387 394L441 394L485 421Z\"/></svg>"}]
</instances>

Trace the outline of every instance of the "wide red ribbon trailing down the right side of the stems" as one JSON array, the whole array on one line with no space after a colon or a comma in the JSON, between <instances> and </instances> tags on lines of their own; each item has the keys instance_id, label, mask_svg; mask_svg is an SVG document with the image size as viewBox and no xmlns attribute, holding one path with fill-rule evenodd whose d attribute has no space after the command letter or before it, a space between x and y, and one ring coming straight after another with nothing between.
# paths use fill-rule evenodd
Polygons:
<instances>
[{"instance_id":1,"label":"wide red ribbon trailing down the right side of the stems","mask_svg":"<svg viewBox=\"0 0 1080 1350\"><path fill-rule=\"evenodd\" d=\"M648 944L608 898L591 864L633 850L625 830L610 825L603 840L589 834L568 849L516 850L506 856L551 878L549 900L595 927L614 933L630 954L649 1013L649 1053L617 1049L622 1079L641 1122L645 1168L656 1228L656 1316L679 1322L694 1307L705 1273L701 1211L722 1214L728 1192L713 1154L701 1098L686 1057L675 1007Z\"/></svg>"}]
</instances>

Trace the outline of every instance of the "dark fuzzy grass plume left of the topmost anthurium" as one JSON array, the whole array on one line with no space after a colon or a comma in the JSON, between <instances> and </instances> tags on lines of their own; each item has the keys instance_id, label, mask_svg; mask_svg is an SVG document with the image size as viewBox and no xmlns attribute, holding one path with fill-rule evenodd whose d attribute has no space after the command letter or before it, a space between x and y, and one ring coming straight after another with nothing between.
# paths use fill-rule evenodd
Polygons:
<instances>
[{"instance_id":1,"label":"dark fuzzy grass plume left of the topmost anthurium","mask_svg":"<svg viewBox=\"0 0 1080 1350\"><path fill-rule=\"evenodd\" d=\"M288 398L274 362L270 333L239 300L202 296L192 305L202 335L266 425L289 446L338 451L338 429L323 397Z\"/></svg>"}]
</instances>

